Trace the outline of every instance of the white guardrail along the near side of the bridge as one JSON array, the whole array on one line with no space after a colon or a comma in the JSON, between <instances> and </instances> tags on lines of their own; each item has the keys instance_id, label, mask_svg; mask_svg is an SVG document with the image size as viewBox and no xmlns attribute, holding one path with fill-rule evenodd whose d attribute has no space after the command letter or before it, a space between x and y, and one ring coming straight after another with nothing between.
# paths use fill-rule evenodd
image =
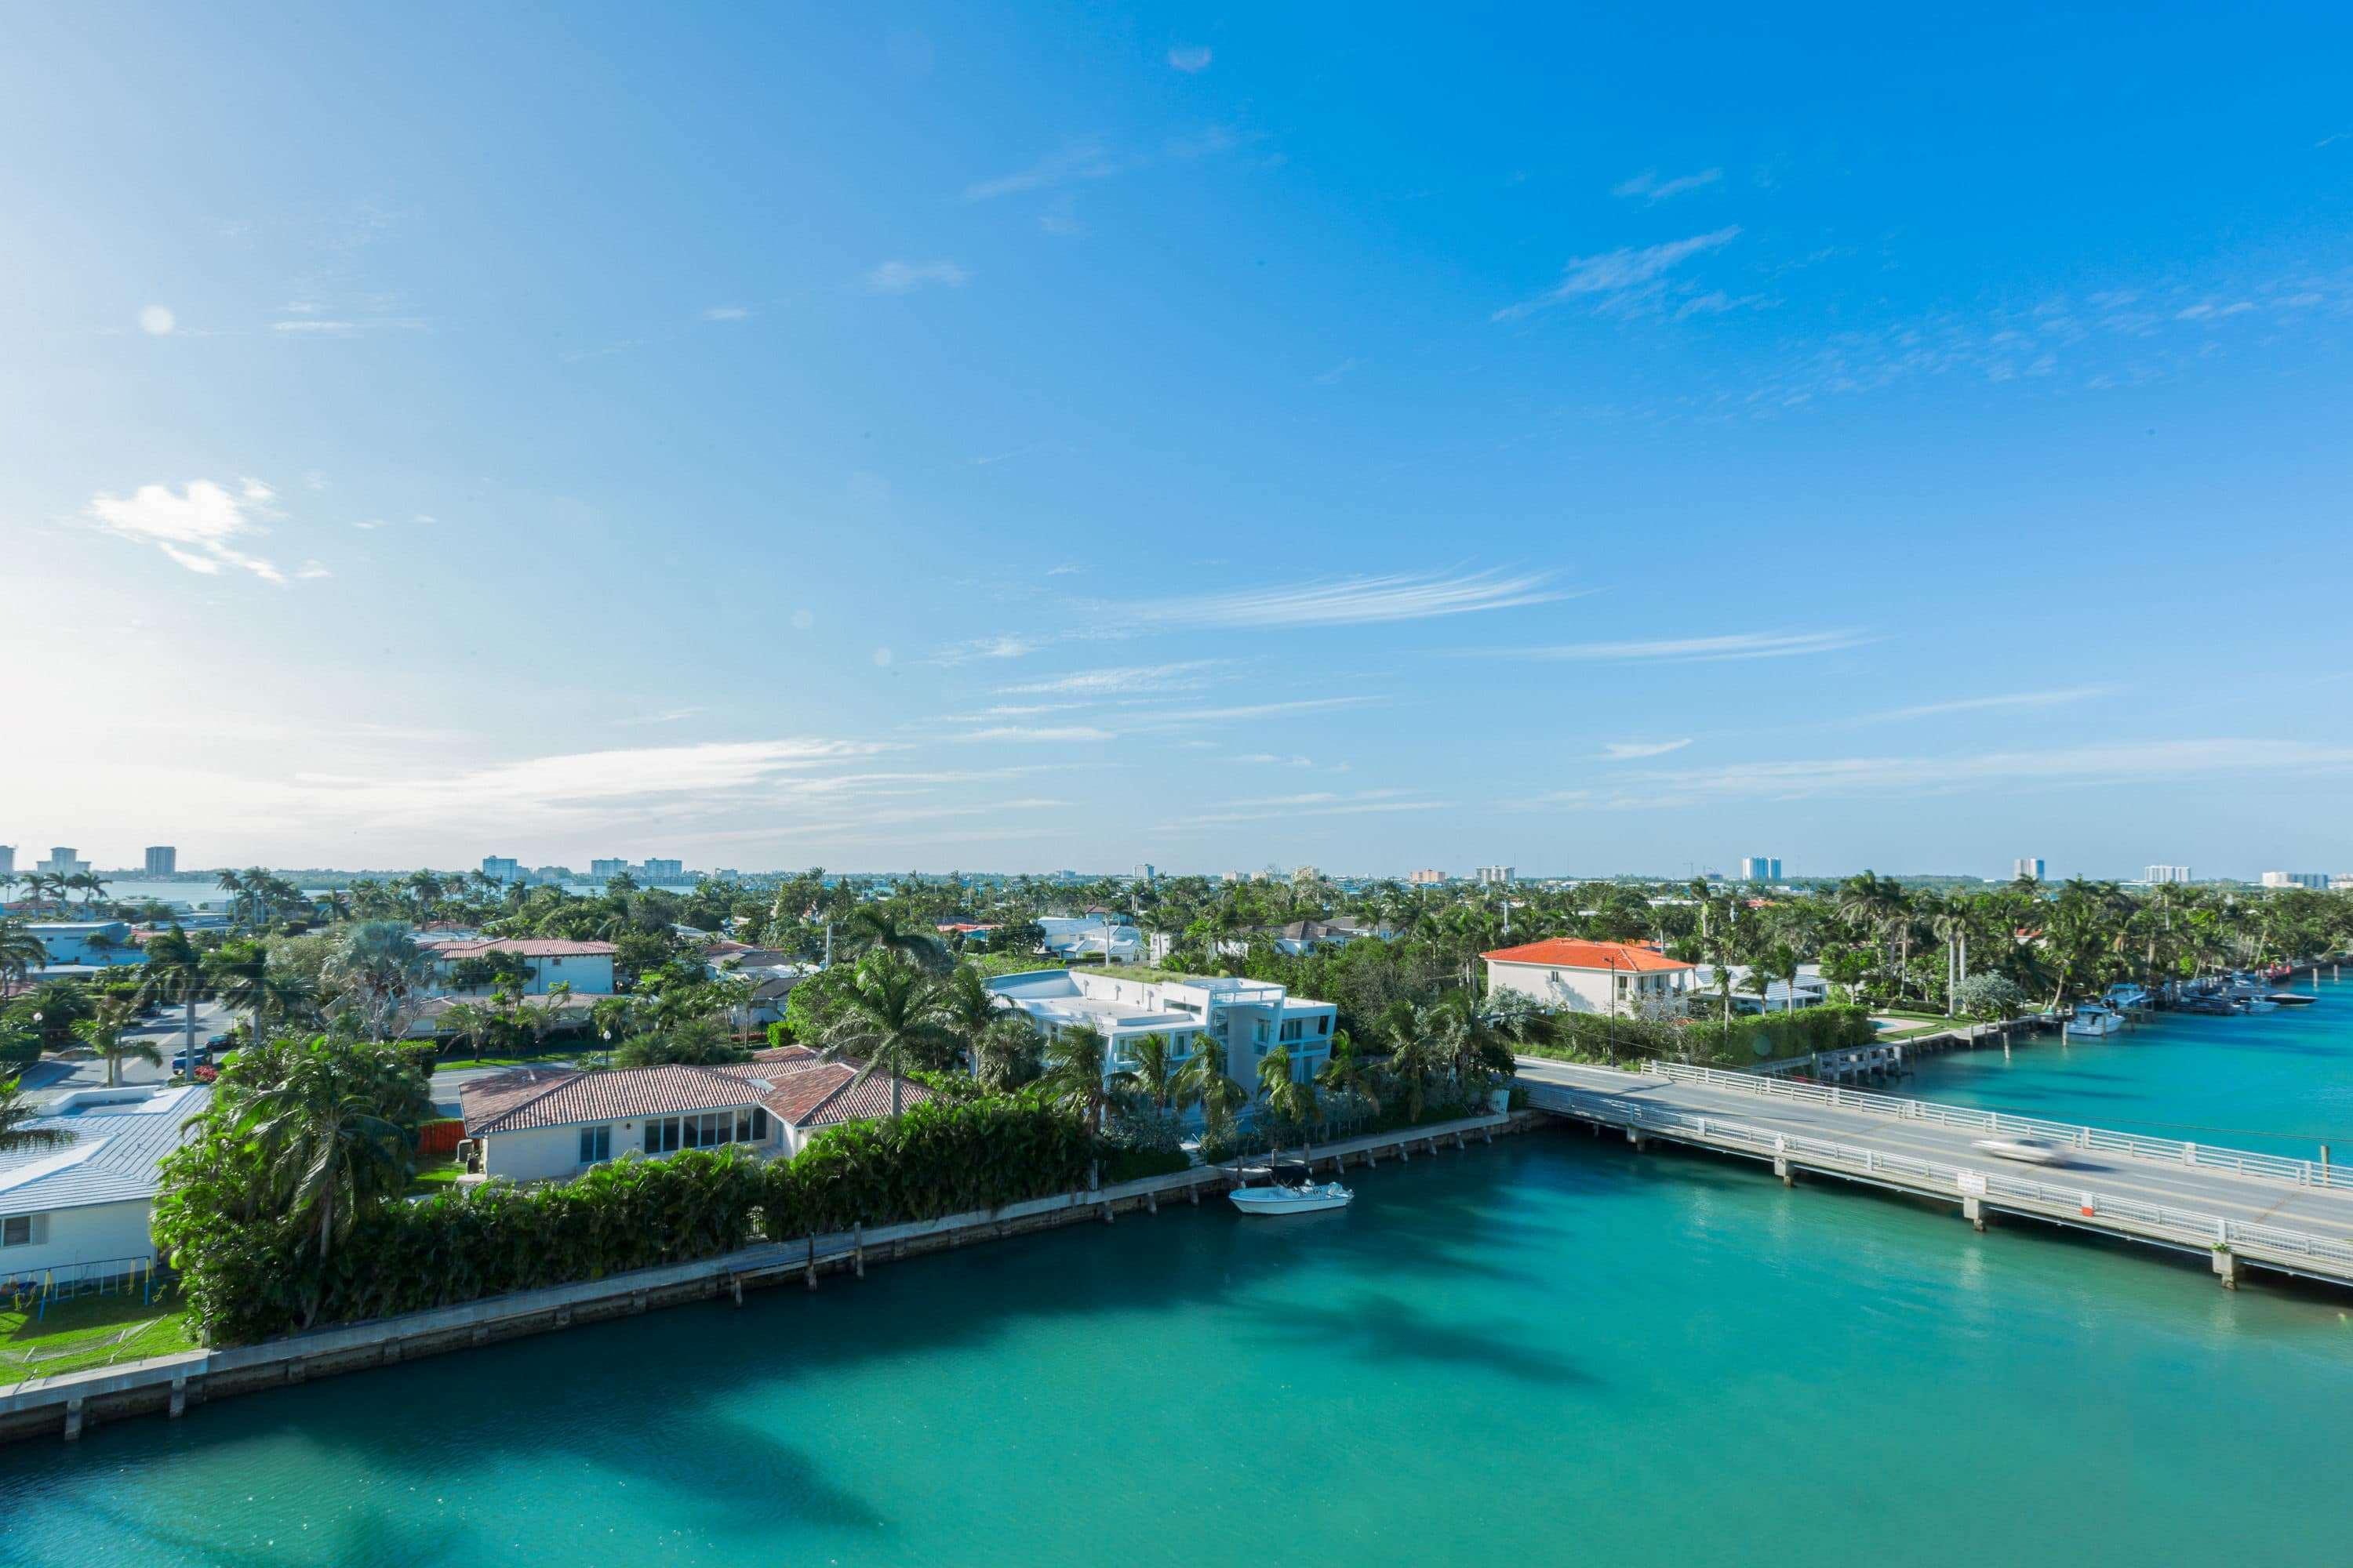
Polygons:
<instances>
[{"instance_id":1,"label":"white guardrail along the near side of the bridge","mask_svg":"<svg viewBox=\"0 0 2353 1568\"><path fill-rule=\"evenodd\" d=\"M2315 1272L2327 1279L2353 1279L2353 1241L2332 1241L2301 1229L2245 1225L2240 1220L2226 1220L2193 1208L2167 1208L2165 1204L2144 1204L2139 1199L2108 1197L2082 1187L2047 1187L2002 1171L1969 1171L1937 1159L1918 1159L1913 1154L1889 1154L1885 1150L1866 1150L1861 1145L1833 1143L1828 1138L1777 1133L1772 1128L1748 1126L1746 1121L1727 1121L1725 1117L1701 1117L1699 1112L1640 1105L1635 1100L1626 1100L1624 1095L1569 1088L1565 1084L1529 1084L1529 1100L1541 1105L1539 1095L1560 1095L1572 1103L1569 1110L1584 1105L1595 1119L1612 1126L1638 1126L1664 1135L1692 1138L1706 1145L1748 1150L1767 1159L1784 1157L1809 1166L1833 1166L1852 1171L1864 1180L1882 1180L1908 1190L1925 1185L1939 1197L1981 1197L1995 1204L2031 1204L2040 1211L2059 1211L2042 1218L2057 1218L2071 1225L2080 1225L2085 1220L2099 1225L2106 1220L2104 1229L2122 1234L2153 1234L2155 1239L2174 1241L2193 1251L2228 1246L2233 1253L2245 1258L2275 1260L2282 1267ZM2017 1119L2012 1117L2009 1121Z\"/></svg>"}]
</instances>

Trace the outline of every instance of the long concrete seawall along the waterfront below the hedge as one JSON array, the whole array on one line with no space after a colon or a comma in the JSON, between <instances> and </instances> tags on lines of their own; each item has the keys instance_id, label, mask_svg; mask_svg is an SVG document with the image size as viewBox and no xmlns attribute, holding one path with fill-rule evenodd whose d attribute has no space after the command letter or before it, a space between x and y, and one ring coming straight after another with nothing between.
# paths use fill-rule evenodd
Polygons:
<instances>
[{"instance_id":1,"label":"long concrete seawall along the waterfront below the hedge","mask_svg":"<svg viewBox=\"0 0 2353 1568\"><path fill-rule=\"evenodd\" d=\"M1384 1157L1412 1159L1440 1150L1489 1143L1541 1121L1534 1112L1475 1117L1433 1126L1400 1128L1344 1138L1313 1150L1318 1168L1374 1164ZM122 1415L181 1415L188 1406L233 1394L332 1378L379 1366L398 1366L416 1356L473 1349L499 1340L553 1333L574 1324L635 1316L656 1307L732 1298L744 1291L800 1284L807 1291L828 1274L864 1279L871 1262L896 1262L965 1244L1002 1241L1061 1225L1115 1222L1125 1213L1160 1213L1162 1201L1200 1204L1233 1187L1233 1171L1195 1166L1172 1175L1120 1182L1099 1192L1059 1192L1054 1197L1007 1204L1002 1208L880 1225L805 1241L762 1241L718 1258L673 1262L656 1269L633 1269L607 1279L588 1279L544 1291L487 1295L482 1300L407 1316L348 1324L318 1333L238 1345L231 1349L191 1349L85 1373L33 1380L0 1394L0 1443L35 1436L78 1439L89 1427Z\"/></svg>"}]
</instances>

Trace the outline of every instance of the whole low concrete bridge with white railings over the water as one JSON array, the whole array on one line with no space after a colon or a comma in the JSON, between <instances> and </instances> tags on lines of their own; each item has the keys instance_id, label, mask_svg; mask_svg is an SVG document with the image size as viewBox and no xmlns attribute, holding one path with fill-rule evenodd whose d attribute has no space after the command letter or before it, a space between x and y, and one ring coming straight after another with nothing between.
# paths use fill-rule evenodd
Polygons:
<instances>
[{"instance_id":1,"label":"whole low concrete bridge with white railings over the water","mask_svg":"<svg viewBox=\"0 0 2353 1568\"><path fill-rule=\"evenodd\" d=\"M1979 1229L2017 1215L2353 1288L2353 1171L2209 1143L2141 1138L2007 1112L1904 1100L1746 1072L1645 1063L1640 1072L1520 1058L1534 1110L1798 1171L1958 1204ZM2064 1166L2002 1161L1981 1138L2038 1138Z\"/></svg>"}]
</instances>

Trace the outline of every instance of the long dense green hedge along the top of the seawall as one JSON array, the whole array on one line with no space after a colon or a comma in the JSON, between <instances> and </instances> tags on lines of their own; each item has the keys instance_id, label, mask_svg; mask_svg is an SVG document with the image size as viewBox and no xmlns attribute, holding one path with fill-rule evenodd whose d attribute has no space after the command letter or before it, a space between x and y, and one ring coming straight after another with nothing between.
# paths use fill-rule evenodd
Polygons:
<instances>
[{"instance_id":1,"label":"long dense green hedge along the top of the seawall","mask_svg":"<svg viewBox=\"0 0 2353 1568\"><path fill-rule=\"evenodd\" d=\"M174 1258L212 1345L306 1324L452 1307L508 1291L934 1220L1087 1185L1087 1131L1045 1095L927 1100L896 1121L852 1121L793 1159L739 1150L635 1154L546 1187L482 1185L365 1213L318 1267L287 1225L207 1225Z\"/></svg>"}]
</instances>

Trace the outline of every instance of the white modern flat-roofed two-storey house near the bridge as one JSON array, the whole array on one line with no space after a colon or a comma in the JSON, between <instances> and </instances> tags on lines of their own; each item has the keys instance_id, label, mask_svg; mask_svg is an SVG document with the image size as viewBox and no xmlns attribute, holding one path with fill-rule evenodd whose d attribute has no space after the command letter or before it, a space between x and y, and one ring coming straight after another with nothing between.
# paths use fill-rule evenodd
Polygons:
<instances>
[{"instance_id":1,"label":"white modern flat-roofed two-storey house near the bridge","mask_svg":"<svg viewBox=\"0 0 2353 1568\"><path fill-rule=\"evenodd\" d=\"M1054 1034L1092 1023L1111 1041L1111 1072L1134 1067L1134 1044L1162 1034L1169 1053L1191 1060L1195 1051L1224 1051L1226 1077L1245 1088L1259 1081L1259 1058L1289 1046L1292 1077L1311 1079L1332 1060L1332 1027L1339 1009L1329 1001L1292 997L1271 980L1144 978L1085 969L1035 969L988 983L1005 1006L1026 1013Z\"/></svg>"}]
</instances>

